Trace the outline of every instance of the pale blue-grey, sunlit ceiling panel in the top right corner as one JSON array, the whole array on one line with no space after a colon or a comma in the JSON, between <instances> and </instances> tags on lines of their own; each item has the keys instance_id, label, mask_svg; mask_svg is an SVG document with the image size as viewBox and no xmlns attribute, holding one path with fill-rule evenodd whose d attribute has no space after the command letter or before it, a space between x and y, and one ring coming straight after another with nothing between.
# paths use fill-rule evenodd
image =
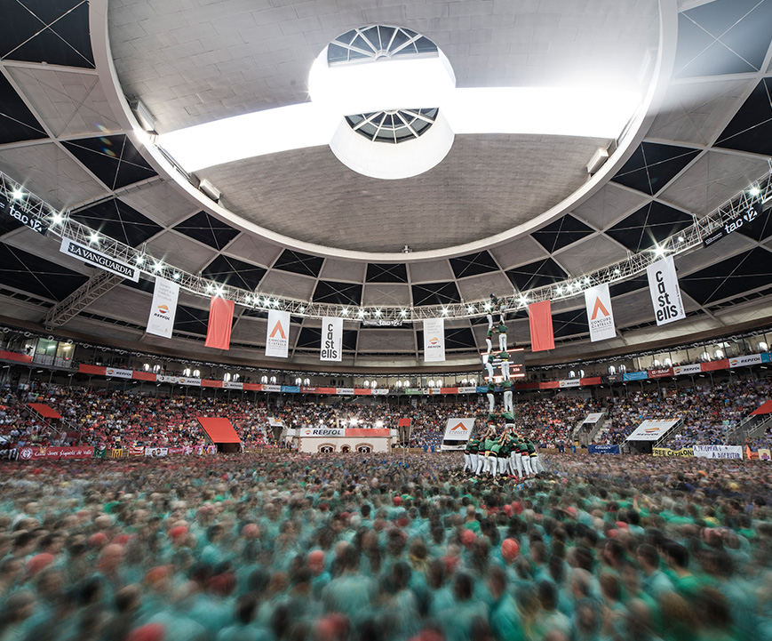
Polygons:
<instances>
[{"instance_id":1,"label":"pale blue-grey, sunlit ceiling panel in the top right corner","mask_svg":"<svg viewBox=\"0 0 772 641\"><path fill-rule=\"evenodd\" d=\"M772 34L769 0L715 0L679 15L677 78L759 71Z\"/></svg>"}]
</instances>

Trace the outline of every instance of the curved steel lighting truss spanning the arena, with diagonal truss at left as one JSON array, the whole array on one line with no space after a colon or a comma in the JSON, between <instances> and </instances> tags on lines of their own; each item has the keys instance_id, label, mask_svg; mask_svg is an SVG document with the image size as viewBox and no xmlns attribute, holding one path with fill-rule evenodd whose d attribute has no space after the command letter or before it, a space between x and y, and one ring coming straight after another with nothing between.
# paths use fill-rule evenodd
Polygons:
<instances>
[{"instance_id":1,"label":"curved steel lighting truss spanning the arena, with diagonal truss at left","mask_svg":"<svg viewBox=\"0 0 772 641\"><path fill-rule=\"evenodd\" d=\"M506 308L517 310L527 307L530 303L544 300L569 300L582 294L588 287L597 284L615 284L640 275L649 265L664 256L676 256L693 252L699 249L704 238L712 232L736 220L752 204L757 202L767 203L772 198L772 162L770 169L752 186L754 191L741 191L720 207L696 218L695 222L665 239L653 250L631 254L625 260L608 265L601 269L588 272L577 278L569 278L563 281L544 285L527 292L514 292L505 297ZM322 316L342 316L352 321L383 321L385 324L396 325L399 322L410 323L426 318L473 318L484 316L489 310L488 300L474 300L465 303L449 303L447 305L422 305L418 307L357 307L353 305L330 305L326 303L310 302L307 300L294 300L277 298L259 291L250 292L245 289L233 287L227 284L219 284L210 278L190 274L183 269L175 268L163 260L156 259L142 249L120 243L114 238L99 234L98 231L87 227L69 217L69 210L58 212L51 205L29 193L9 176L0 172L0 195L5 196L9 202L15 203L29 217L36 218L48 225L48 236L69 238L78 243L92 246L107 256L122 260L125 263L139 268L145 276L160 276L179 284L180 288L199 296L211 297L223 296L228 300L234 300L236 304L252 309L279 309L288 311L293 316L306 318L322 318ZM102 276L102 275L99 275ZM119 279L119 276L112 276ZM111 275L95 276L74 292L68 299L63 300L46 316L46 322L50 325L62 325L86 305L115 286L111 283ZM83 290L83 292L81 291ZM72 300L71 300L72 299Z\"/></svg>"}]
</instances>

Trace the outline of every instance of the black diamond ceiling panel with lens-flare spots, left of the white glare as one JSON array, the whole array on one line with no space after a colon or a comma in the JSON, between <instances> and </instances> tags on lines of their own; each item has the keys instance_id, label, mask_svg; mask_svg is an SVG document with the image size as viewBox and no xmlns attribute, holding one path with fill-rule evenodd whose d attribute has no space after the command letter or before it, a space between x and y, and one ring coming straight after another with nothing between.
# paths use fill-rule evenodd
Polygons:
<instances>
[{"instance_id":1,"label":"black diamond ceiling panel with lens-flare spots, left of the white glare","mask_svg":"<svg viewBox=\"0 0 772 641\"><path fill-rule=\"evenodd\" d=\"M107 188L117 189L157 174L123 133L62 143Z\"/></svg>"}]
</instances>

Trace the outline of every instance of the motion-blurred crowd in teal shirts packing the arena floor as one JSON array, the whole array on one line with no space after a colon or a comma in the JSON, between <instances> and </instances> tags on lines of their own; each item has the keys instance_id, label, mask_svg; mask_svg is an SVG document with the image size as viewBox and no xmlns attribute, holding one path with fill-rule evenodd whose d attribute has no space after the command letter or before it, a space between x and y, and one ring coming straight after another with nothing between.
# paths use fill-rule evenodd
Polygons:
<instances>
[{"instance_id":1,"label":"motion-blurred crowd in teal shirts packing the arena floor","mask_svg":"<svg viewBox=\"0 0 772 641\"><path fill-rule=\"evenodd\" d=\"M457 457L2 464L0 641L772 639L768 463Z\"/></svg>"}]
</instances>

